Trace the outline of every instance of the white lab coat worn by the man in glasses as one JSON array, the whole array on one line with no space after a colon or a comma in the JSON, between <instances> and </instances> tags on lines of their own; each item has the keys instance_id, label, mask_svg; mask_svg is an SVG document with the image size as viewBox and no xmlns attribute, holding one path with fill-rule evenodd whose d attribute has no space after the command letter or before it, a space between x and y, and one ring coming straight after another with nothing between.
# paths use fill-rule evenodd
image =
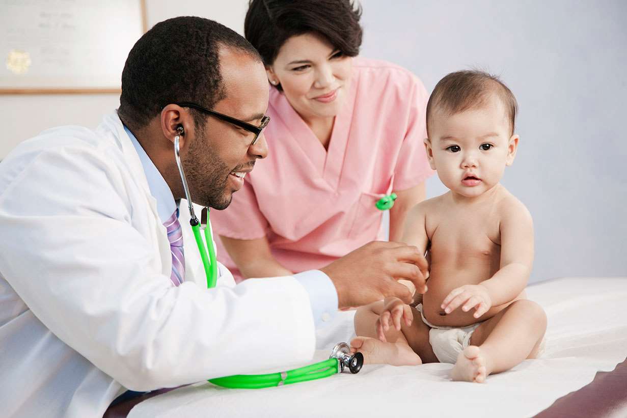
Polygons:
<instances>
[{"instance_id":1,"label":"white lab coat worn by the man in glasses","mask_svg":"<svg viewBox=\"0 0 627 418\"><path fill-rule=\"evenodd\" d=\"M307 292L293 277L206 289L181 203L186 281L117 114L60 127L0 164L0 412L100 417L152 390L303 362ZM243 220L245 221L245 220Z\"/></svg>"}]
</instances>

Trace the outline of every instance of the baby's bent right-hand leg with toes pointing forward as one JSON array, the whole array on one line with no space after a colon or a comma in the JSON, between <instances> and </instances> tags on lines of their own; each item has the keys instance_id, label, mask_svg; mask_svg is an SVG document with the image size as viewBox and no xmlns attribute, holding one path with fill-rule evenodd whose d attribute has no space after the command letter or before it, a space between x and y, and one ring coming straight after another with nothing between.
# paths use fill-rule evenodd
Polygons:
<instances>
[{"instance_id":1,"label":"baby's bent right-hand leg with toes pointing forward","mask_svg":"<svg viewBox=\"0 0 627 418\"><path fill-rule=\"evenodd\" d=\"M487 375L504 372L537 355L547 319L544 310L530 300L517 300L483 322L460 353L453 380L483 382Z\"/></svg>"}]
</instances>

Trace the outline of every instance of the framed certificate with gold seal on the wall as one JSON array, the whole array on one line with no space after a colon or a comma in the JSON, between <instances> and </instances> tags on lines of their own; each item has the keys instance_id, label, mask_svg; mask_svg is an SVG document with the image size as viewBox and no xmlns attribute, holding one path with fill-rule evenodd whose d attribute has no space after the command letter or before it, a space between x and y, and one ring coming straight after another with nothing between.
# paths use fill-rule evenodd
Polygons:
<instances>
[{"instance_id":1,"label":"framed certificate with gold seal on the wall","mask_svg":"<svg viewBox=\"0 0 627 418\"><path fill-rule=\"evenodd\" d=\"M0 94L119 93L145 0L0 0Z\"/></svg>"}]
</instances>

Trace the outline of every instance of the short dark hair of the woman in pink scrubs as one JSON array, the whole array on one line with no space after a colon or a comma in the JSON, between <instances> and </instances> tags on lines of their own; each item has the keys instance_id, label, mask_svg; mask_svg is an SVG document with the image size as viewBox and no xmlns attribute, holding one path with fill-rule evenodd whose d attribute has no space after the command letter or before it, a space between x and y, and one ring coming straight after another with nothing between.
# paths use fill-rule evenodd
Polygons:
<instances>
[{"instance_id":1,"label":"short dark hair of the woman in pink scrubs","mask_svg":"<svg viewBox=\"0 0 627 418\"><path fill-rule=\"evenodd\" d=\"M350 0L250 0L244 36L272 65L283 43L295 35L316 33L344 55L361 46L361 6Z\"/></svg>"}]
</instances>

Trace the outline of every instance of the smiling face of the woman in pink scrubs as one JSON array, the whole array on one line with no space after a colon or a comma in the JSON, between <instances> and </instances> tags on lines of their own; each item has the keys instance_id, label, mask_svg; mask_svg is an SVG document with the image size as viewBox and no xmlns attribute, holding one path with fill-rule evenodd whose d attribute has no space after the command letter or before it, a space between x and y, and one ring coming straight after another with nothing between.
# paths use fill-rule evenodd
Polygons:
<instances>
[{"instance_id":1,"label":"smiling face of the woman in pink scrubs","mask_svg":"<svg viewBox=\"0 0 627 418\"><path fill-rule=\"evenodd\" d=\"M334 117L344 105L352 58L324 38L305 33L287 39L276 60L266 68L290 105L305 120Z\"/></svg>"}]
</instances>

